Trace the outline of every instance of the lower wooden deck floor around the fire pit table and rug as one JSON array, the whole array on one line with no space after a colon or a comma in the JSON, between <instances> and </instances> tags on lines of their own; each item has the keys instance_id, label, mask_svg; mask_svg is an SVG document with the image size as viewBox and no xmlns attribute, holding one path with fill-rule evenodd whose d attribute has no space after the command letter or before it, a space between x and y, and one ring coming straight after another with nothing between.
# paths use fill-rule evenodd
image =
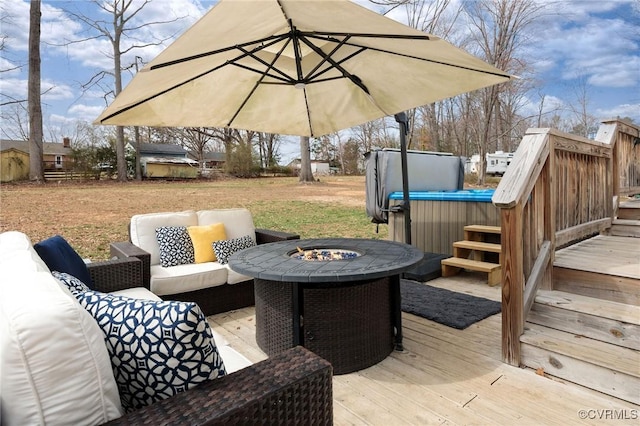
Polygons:
<instances>
[{"instance_id":1,"label":"lower wooden deck floor around the fire pit table and rug","mask_svg":"<svg viewBox=\"0 0 640 426\"><path fill-rule=\"evenodd\" d=\"M429 285L500 300L500 287L487 286L484 274ZM209 322L251 361L266 358L253 308ZM403 331L405 352L334 377L336 425L638 424L637 405L502 363L500 314L466 330L403 314Z\"/></svg>"}]
</instances>

